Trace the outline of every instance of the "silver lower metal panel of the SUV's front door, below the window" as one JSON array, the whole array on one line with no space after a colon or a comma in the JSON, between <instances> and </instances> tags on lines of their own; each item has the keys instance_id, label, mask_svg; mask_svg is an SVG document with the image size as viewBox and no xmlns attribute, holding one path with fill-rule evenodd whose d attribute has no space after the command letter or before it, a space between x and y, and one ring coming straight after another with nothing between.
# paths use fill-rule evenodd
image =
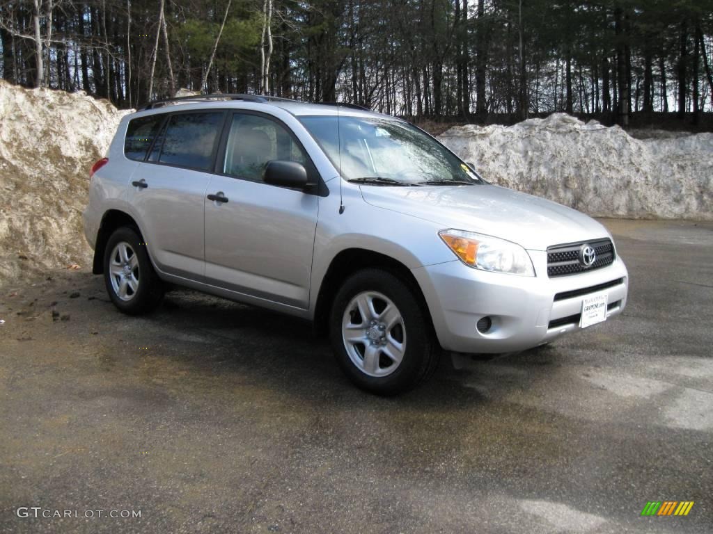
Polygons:
<instances>
[{"instance_id":1,"label":"silver lower metal panel of the SUV's front door, below the window","mask_svg":"<svg viewBox=\"0 0 713 534\"><path fill-rule=\"evenodd\" d=\"M208 283L306 309L318 197L225 176L208 189L228 199L205 199Z\"/></svg>"}]
</instances>

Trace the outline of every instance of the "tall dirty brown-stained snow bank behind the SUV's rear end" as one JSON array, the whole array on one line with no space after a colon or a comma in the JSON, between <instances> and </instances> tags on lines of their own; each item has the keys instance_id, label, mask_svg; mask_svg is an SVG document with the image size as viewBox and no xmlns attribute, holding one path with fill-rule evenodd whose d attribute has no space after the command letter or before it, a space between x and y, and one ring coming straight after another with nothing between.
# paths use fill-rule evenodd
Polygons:
<instances>
[{"instance_id":1,"label":"tall dirty brown-stained snow bank behind the SUV's rear end","mask_svg":"<svg viewBox=\"0 0 713 534\"><path fill-rule=\"evenodd\" d=\"M89 168L125 113L84 93L0 80L0 284L90 264L81 222Z\"/></svg>"}]
</instances>

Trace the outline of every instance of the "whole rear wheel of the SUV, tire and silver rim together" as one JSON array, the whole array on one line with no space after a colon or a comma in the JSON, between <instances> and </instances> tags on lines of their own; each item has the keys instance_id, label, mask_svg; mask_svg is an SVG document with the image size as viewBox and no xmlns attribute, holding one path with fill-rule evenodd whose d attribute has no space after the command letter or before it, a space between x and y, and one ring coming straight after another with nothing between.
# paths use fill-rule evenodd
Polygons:
<instances>
[{"instance_id":1,"label":"whole rear wheel of the SUV, tire and silver rim together","mask_svg":"<svg viewBox=\"0 0 713 534\"><path fill-rule=\"evenodd\" d=\"M163 286L135 229L116 229L104 251L104 283L109 298L123 313L146 313L160 303Z\"/></svg>"}]
</instances>

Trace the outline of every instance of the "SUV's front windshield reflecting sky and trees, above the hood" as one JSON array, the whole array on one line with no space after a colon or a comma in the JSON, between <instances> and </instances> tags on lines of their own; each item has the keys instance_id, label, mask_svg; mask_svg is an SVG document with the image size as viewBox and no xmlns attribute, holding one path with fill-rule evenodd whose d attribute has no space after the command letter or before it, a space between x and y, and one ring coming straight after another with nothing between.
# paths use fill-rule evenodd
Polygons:
<instances>
[{"instance_id":1,"label":"SUV's front windshield reflecting sky and trees, above the hood","mask_svg":"<svg viewBox=\"0 0 713 534\"><path fill-rule=\"evenodd\" d=\"M374 185L484 183L458 157L407 122L336 115L299 120L349 181Z\"/></svg>"}]
</instances>

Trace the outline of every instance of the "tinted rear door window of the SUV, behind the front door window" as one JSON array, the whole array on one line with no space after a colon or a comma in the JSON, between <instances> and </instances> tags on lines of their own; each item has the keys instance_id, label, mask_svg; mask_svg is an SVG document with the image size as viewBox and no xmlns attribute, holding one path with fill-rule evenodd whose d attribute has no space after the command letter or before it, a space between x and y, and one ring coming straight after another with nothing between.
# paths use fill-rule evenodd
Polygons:
<instances>
[{"instance_id":1,"label":"tinted rear door window of the SUV, behind the front door window","mask_svg":"<svg viewBox=\"0 0 713 534\"><path fill-rule=\"evenodd\" d=\"M172 115L162 136L163 144L154 147L160 150L158 161L189 169L211 169L223 115L222 111Z\"/></svg>"}]
</instances>

